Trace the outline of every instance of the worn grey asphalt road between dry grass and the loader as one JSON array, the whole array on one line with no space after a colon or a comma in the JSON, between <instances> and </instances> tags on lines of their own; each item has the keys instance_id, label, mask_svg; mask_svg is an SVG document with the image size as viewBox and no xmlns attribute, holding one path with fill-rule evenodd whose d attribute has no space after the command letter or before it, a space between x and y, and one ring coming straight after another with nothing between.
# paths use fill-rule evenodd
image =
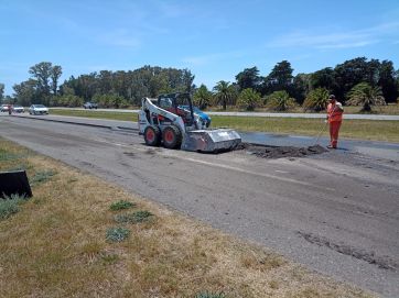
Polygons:
<instances>
[{"instance_id":1,"label":"worn grey asphalt road between dry grass and the loader","mask_svg":"<svg viewBox=\"0 0 399 298\"><path fill-rule=\"evenodd\" d=\"M398 162L351 150L263 159L152 148L137 132L109 126L0 117L3 137L320 273L399 297Z\"/></svg>"}]
</instances>

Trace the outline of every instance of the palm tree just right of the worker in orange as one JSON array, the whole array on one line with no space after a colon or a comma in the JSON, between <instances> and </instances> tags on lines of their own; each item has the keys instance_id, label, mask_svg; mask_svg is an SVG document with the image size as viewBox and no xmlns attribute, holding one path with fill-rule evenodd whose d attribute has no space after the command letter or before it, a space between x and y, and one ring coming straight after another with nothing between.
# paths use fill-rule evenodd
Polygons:
<instances>
[{"instance_id":1,"label":"palm tree just right of the worker in orange","mask_svg":"<svg viewBox=\"0 0 399 298\"><path fill-rule=\"evenodd\" d=\"M367 82L359 82L348 92L348 103L363 106L362 112L370 112L371 106L385 104L385 98L380 87L371 87Z\"/></svg>"}]
</instances>

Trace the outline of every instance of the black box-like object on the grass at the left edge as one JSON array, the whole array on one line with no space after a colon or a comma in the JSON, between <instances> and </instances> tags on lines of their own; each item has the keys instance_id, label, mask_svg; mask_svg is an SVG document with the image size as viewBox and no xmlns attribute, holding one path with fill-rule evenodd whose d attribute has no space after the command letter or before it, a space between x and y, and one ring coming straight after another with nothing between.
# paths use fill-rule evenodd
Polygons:
<instances>
[{"instance_id":1,"label":"black box-like object on the grass at the left edge","mask_svg":"<svg viewBox=\"0 0 399 298\"><path fill-rule=\"evenodd\" d=\"M4 198L4 195L32 197L31 186L24 170L0 172L0 198Z\"/></svg>"}]
</instances>

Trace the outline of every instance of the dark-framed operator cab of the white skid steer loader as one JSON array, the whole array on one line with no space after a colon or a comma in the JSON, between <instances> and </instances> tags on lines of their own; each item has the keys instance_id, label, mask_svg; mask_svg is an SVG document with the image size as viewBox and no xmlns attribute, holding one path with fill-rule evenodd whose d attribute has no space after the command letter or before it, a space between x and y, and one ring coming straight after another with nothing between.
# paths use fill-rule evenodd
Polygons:
<instances>
[{"instance_id":1,"label":"dark-framed operator cab of the white skid steer loader","mask_svg":"<svg viewBox=\"0 0 399 298\"><path fill-rule=\"evenodd\" d=\"M190 109L184 109L182 108L183 106L190 107ZM194 112L190 93L161 95L158 97L158 107L180 115L186 126L194 124Z\"/></svg>"}]
</instances>

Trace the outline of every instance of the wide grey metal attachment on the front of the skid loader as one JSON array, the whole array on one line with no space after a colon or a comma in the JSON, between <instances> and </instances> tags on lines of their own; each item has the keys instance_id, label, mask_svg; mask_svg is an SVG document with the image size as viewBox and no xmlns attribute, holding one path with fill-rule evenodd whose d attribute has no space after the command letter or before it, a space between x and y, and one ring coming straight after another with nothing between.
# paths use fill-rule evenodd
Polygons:
<instances>
[{"instance_id":1,"label":"wide grey metal attachment on the front of the skid loader","mask_svg":"<svg viewBox=\"0 0 399 298\"><path fill-rule=\"evenodd\" d=\"M184 135L182 150L199 152L230 151L241 143L239 134L229 129L196 130Z\"/></svg>"}]
</instances>

